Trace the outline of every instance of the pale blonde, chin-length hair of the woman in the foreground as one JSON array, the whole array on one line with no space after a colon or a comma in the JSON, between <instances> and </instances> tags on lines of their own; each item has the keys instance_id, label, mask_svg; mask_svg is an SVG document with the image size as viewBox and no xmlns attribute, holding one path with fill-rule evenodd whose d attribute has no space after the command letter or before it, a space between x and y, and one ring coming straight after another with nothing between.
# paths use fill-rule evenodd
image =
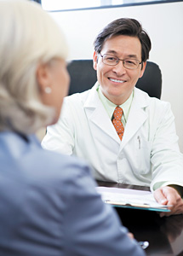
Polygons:
<instances>
[{"instance_id":1,"label":"pale blonde, chin-length hair of the woman in the foreground","mask_svg":"<svg viewBox=\"0 0 183 256\"><path fill-rule=\"evenodd\" d=\"M54 119L40 100L37 66L66 60L65 38L49 14L26 0L0 1L0 35L0 131L35 132Z\"/></svg>"}]
</instances>

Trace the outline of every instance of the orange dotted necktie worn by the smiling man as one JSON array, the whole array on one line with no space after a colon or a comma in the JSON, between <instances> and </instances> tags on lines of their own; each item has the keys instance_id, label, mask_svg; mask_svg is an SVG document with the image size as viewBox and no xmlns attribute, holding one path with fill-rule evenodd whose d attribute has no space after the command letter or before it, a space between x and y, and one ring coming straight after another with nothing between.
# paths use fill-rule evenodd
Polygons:
<instances>
[{"instance_id":1,"label":"orange dotted necktie worn by the smiling man","mask_svg":"<svg viewBox=\"0 0 183 256\"><path fill-rule=\"evenodd\" d=\"M114 128L116 129L120 140L122 140L123 132L124 132L124 127L121 121L122 116L123 116L123 109L120 107L115 108L113 113L112 124L114 125Z\"/></svg>"}]
</instances>

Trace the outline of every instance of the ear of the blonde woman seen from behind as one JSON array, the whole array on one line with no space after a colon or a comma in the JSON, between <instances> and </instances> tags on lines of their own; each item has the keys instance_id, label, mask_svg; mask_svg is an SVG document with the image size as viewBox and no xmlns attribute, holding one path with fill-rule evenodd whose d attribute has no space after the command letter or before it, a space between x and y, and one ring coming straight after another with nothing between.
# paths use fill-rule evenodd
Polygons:
<instances>
[{"instance_id":1,"label":"ear of the blonde woman seen from behind","mask_svg":"<svg viewBox=\"0 0 183 256\"><path fill-rule=\"evenodd\" d=\"M47 64L39 64L36 75L40 91L45 91L45 88L50 87L50 73Z\"/></svg>"}]
</instances>

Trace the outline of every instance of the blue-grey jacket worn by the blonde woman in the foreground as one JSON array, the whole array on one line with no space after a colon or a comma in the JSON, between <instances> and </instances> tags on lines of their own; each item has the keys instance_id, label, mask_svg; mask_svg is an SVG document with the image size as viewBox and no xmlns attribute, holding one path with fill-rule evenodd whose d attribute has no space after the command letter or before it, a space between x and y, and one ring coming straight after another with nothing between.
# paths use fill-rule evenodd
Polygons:
<instances>
[{"instance_id":1,"label":"blue-grey jacket worn by the blonde woman in the foreground","mask_svg":"<svg viewBox=\"0 0 183 256\"><path fill-rule=\"evenodd\" d=\"M0 133L0 256L144 255L95 191L89 166Z\"/></svg>"}]
</instances>

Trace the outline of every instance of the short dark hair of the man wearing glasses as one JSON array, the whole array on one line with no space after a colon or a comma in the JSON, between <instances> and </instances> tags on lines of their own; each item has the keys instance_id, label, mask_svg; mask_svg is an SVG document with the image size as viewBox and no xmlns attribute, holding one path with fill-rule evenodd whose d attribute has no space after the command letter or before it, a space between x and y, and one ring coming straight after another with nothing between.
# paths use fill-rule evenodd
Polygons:
<instances>
[{"instance_id":1,"label":"short dark hair of the man wearing glasses","mask_svg":"<svg viewBox=\"0 0 183 256\"><path fill-rule=\"evenodd\" d=\"M109 23L95 38L94 50L100 53L106 40L118 35L139 38L141 44L141 61L144 62L149 58L149 52L152 48L151 40L146 31L143 30L140 22L129 18L122 18Z\"/></svg>"}]
</instances>

